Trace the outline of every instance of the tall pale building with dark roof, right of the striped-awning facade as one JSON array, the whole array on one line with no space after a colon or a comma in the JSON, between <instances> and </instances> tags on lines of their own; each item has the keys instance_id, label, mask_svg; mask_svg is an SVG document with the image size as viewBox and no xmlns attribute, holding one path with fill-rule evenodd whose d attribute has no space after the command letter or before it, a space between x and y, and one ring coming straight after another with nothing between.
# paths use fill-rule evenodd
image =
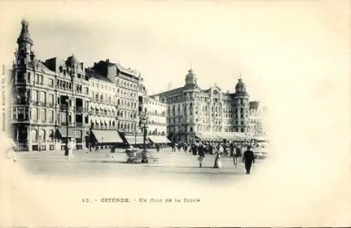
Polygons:
<instances>
[{"instance_id":1,"label":"tall pale building with dark roof, right of the striped-awning facade","mask_svg":"<svg viewBox=\"0 0 351 228\"><path fill-rule=\"evenodd\" d=\"M110 104L115 107L116 126L122 138L127 144L142 144L139 121L147 111L147 90L140 73L109 59L94 63L91 70L102 76L101 79L114 83L114 88L111 87L114 98L111 97Z\"/></svg>"}]
</instances>

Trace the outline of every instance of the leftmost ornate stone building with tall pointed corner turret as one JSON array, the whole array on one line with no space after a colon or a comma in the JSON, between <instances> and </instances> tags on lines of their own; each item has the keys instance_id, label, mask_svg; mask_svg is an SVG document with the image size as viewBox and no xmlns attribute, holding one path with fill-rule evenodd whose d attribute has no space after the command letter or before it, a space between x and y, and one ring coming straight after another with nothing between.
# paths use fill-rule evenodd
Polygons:
<instances>
[{"instance_id":1,"label":"leftmost ornate stone building with tall pointed corner turret","mask_svg":"<svg viewBox=\"0 0 351 228\"><path fill-rule=\"evenodd\" d=\"M84 65L74 55L37 60L28 26L22 20L11 82L11 123L18 149L63 149L67 131L78 149L84 147L90 100Z\"/></svg>"}]
</instances>

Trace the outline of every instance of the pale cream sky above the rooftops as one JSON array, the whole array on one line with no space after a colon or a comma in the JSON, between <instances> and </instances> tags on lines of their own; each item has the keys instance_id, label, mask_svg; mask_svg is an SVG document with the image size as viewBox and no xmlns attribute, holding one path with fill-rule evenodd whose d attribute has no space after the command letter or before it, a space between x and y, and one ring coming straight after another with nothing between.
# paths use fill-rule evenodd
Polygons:
<instances>
[{"instance_id":1,"label":"pale cream sky above the rooftops","mask_svg":"<svg viewBox=\"0 0 351 228\"><path fill-rule=\"evenodd\" d=\"M305 118L321 108L314 105L340 101L348 93L348 1L323 3L5 2L1 56L13 60L20 21L26 18L41 60L74 53L89 67L109 58L141 72L150 95L169 84L183 86L190 65L204 89L217 83L233 92L241 75L251 100L265 102L278 117Z\"/></svg>"}]
</instances>

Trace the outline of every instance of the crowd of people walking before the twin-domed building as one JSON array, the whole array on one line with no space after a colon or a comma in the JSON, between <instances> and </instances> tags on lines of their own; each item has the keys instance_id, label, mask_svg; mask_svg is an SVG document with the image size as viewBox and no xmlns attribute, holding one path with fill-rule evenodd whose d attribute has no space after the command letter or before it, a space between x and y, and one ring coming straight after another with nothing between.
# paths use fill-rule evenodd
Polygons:
<instances>
[{"instance_id":1,"label":"crowd of people walking before the twin-domed building","mask_svg":"<svg viewBox=\"0 0 351 228\"><path fill-rule=\"evenodd\" d=\"M213 164L213 168L222 168L222 159L221 156L230 156L233 158L233 166L237 168L237 164L239 159L242 159L242 162L245 164L246 174L250 174L251 166L255 163L255 155L251 149L251 146L246 146L246 151L244 155L241 153L242 147L241 145L237 145L234 142L230 142L229 145L223 144L223 142L218 142L217 144L210 142L196 142L192 143L190 147L186 143L180 143L178 145L172 145L173 152L176 151L176 147L178 151L183 148L185 153L191 152L192 155L197 155L197 160L199 161L199 167L202 167L202 163L204 162L205 154L214 154L215 160Z\"/></svg>"}]
</instances>

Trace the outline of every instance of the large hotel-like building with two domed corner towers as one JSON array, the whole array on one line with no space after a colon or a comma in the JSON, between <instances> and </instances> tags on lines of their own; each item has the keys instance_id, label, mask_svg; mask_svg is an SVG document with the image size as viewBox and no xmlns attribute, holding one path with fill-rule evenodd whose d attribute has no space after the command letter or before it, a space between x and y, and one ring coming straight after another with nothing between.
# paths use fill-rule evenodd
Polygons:
<instances>
[{"instance_id":1,"label":"large hotel-like building with two domed corner towers","mask_svg":"<svg viewBox=\"0 0 351 228\"><path fill-rule=\"evenodd\" d=\"M203 90L190 69L185 76L185 86L157 96L167 105L167 132L172 142L194 142L198 138L231 140L234 136L228 135L259 134L251 129L252 102L242 79L238 80L234 93L224 92L216 84Z\"/></svg>"}]
</instances>

